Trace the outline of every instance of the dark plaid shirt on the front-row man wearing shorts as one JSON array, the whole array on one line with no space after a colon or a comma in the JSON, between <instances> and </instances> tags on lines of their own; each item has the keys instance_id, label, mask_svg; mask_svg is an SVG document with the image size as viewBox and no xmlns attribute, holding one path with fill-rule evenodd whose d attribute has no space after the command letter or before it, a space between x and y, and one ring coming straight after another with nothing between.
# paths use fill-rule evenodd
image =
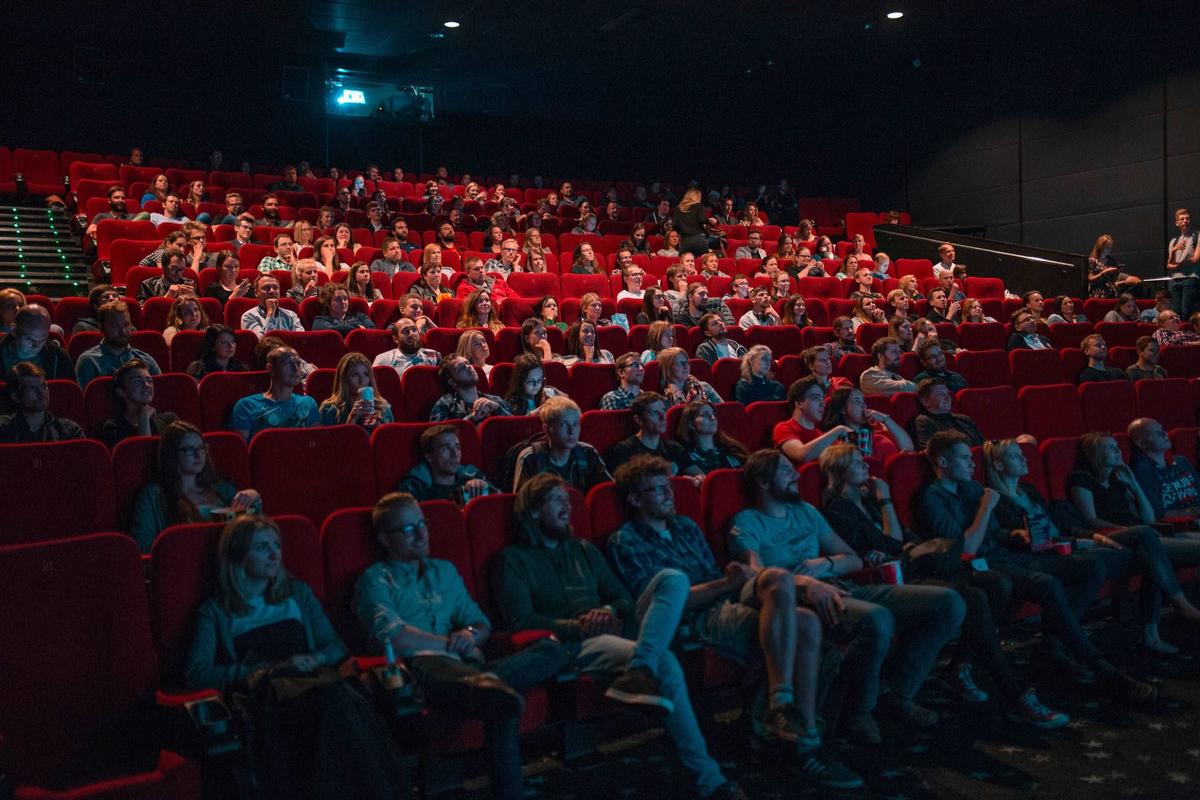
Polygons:
<instances>
[{"instance_id":1,"label":"dark plaid shirt on the front-row man wearing shorts","mask_svg":"<svg viewBox=\"0 0 1200 800\"><path fill-rule=\"evenodd\" d=\"M692 585L721 577L713 551L695 522L674 516L667 523L667 531L660 534L631 519L608 537L613 572L635 597L655 575L667 569L679 570Z\"/></svg>"}]
</instances>

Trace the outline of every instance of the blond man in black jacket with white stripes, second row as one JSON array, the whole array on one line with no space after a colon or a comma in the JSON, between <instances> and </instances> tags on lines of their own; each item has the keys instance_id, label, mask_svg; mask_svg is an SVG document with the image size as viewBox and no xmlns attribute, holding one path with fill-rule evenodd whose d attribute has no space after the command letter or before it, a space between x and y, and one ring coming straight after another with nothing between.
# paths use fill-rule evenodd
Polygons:
<instances>
[{"instance_id":1,"label":"blond man in black jacket with white stripes, second row","mask_svg":"<svg viewBox=\"0 0 1200 800\"><path fill-rule=\"evenodd\" d=\"M580 407L562 395L548 397L538 408L546 440L534 441L517 456L512 491L542 473L558 475L584 497L598 485L612 480L596 449L580 441Z\"/></svg>"}]
</instances>

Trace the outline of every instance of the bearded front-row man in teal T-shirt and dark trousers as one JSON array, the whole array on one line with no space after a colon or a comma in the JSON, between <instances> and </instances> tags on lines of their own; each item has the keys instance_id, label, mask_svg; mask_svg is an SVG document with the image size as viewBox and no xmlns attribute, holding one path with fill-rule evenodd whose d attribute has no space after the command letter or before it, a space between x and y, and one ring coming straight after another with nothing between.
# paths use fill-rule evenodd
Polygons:
<instances>
[{"instance_id":1,"label":"bearded front-row man in teal T-shirt and dark trousers","mask_svg":"<svg viewBox=\"0 0 1200 800\"><path fill-rule=\"evenodd\" d=\"M778 450L760 450L745 464L746 499L730 528L730 553L755 570L779 567L796 576L798 587L824 581L842 590L817 613L833 627L845 620L857 625L851 661L842 666L851 715L847 729L864 744L881 741L871 712L876 704L919 727L937 723L937 715L916 702L917 692L937 663L937 654L959 631L966 606L943 587L889 584L856 585L842 576L863 569L854 551L833 531L824 517L800 499L797 473ZM892 637L896 637L892 648ZM888 650L887 674L881 675ZM880 694L881 681L892 691Z\"/></svg>"}]
</instances>

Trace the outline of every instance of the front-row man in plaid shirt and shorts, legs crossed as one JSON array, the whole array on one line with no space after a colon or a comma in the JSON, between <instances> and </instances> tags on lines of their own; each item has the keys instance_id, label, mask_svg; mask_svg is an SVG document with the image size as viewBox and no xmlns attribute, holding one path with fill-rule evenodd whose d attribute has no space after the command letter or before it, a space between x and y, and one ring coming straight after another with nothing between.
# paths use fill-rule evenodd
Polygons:
<instances>
[{"instance_id":1,"label":"front-row man in plaid shirt and shorts, legs crossed","mask_svg":"<svg viewBox=\"0 0 1200 800\"><path fill-rule=\"evenodd\" d=\"M817 614L796 607L799 585L806 602L840 604L838 591L780 569L755 570L731 561L716 567L700 527L677 515L671 465L658 456L635 456L617 469L617 488L631 518L608 537L613 570L631 591L644 593L666 573L688 581L684 619L706 644L746 663L757 645L767 662L768 702L754 720L763 739L794 748L792 766L830 788L863 784L821 747L816 694L821 662Z\"/></svg>"}]
</instances>

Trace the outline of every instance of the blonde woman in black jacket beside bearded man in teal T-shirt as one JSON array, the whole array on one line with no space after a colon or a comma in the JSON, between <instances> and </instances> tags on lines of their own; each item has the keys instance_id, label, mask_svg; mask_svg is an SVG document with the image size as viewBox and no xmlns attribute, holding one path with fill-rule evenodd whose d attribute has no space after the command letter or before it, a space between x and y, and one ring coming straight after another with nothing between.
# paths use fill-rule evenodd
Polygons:
<instances>
[{"instance_id":1,"label":"blonde woman in black jacket beside bearded man in teal T-shirt","mask_svg":"<svg viewBox=\"0 0 1200 800\"><path fill-rule=\"evenodd\" d=\"M974 573L956 560L914 558L908 553L913 537L905 530L892 504L888 485L871 477L858 447L836 444L821 453L826 487L822 511L829 527L870 567L899 561L906 584L948 587L962 597L967 614L960 643L953 646L948 672L950 686L970 703L985 703L988 694L971 675L971 658L991 676L1010 718L1049 730L1061 728L1067 715L1042 705L1032 687L1021 688L1000 644L996 619L1008 607L1008 594L994 582L972 585Z\"/></svg>"}]
</instances>

